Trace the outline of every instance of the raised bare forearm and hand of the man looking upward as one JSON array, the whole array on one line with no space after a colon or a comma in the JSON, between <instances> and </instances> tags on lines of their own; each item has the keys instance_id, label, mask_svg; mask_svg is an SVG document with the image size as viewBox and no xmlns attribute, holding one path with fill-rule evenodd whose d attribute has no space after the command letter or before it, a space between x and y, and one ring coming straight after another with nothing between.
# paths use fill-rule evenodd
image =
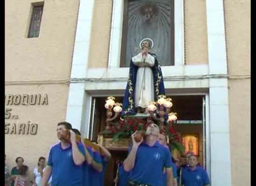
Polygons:
<instances>
[{"instance_id":1,"label":"raised bare forearm and hand of the man looking upward","mask_svg":"<svg viewBox=\"0 0 256 186\"><path fill-rule=\"evenodd\" d=\"M134 168L136 153L137 153L138 147L140 146L141 142L143 141L143 139L142 139L140 142L137 143L134 140L134 136L136 133L137 133L137 131L132 134L133 146L132 146L132 149L131 149L128 157L124 160L124 163L123 163L124 170L127 172L129 172L130 170L132 170Z\"/></svg>"}]
</instances>

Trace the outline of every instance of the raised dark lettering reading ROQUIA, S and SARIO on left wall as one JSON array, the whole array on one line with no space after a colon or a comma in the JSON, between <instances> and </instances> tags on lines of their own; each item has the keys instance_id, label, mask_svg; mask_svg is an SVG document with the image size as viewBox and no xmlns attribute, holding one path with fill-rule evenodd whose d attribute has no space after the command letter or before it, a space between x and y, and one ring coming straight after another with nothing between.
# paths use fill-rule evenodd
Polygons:
<instances>
[{"instance_id":1,"label":"raised dark lettering reading ROQUIA, S and SARIO on left wall","mask_svg":"<svg viewBox=\"0 0 256 186\"><path fill-rule=\"evenodd\" d=\"M5 95L5 105L48 105L47 94L7 94ZM17 122L9 122L9 120L17 120ZM19 114L13 114L13 108L5 108L5 134L31 134L36 135L38 130L38 124L27 121L20 122Z\"/></svg>"}]
</instances>

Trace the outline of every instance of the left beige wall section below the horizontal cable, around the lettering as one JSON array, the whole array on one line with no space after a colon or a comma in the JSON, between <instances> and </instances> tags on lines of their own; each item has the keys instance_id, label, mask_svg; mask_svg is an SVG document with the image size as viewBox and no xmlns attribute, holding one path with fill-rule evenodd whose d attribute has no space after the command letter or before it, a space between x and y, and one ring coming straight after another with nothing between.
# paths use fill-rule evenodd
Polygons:
<instances>
[{"instance_id":1,"label":"left beige wall section below the horizontal cable, around the lettering","mask_svg":"<svg viewBox=\"0 0 256 186\"><path fill-rule=\"evenodd\" d=\"M5 153L7 154L8 170L16 165L15 158L21 156L24 164L29 167L32 176L34 167L40 156L48 157L50 146L58 142L56 126L65 120L67 110L68 85L34 85L6 86L8 94L47 94L48 105L6 105L11 108L11 118L18 115L19 119L6 119L10 123L9 133L5 134ZM36 135L19 134L19 124L30 121L38 124ZM16 124L16 134L11 134L13 123ZM27 127L27 126L26 126ZM25 129L26 130L26 129Z\"/></svg>"}]
</instances>

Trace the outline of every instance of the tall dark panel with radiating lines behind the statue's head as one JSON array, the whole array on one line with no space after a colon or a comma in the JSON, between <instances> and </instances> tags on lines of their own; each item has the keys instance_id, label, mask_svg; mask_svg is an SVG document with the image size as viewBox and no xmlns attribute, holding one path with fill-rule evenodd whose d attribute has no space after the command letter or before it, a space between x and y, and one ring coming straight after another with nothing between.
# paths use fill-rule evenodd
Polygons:
<instances>
[{"instance_id":1,"label":"tall dark panel with radiating lines behind the statue's head","mask_svg":"<svg viewBox=\"0 0 256 186\"><path fill-rule=\"evenodd\" d=\"M124 5L121 61L141 52L143 38L154 41L161 66L174 65L174 0L126 0Z\"/></svg>"}]
</instances>

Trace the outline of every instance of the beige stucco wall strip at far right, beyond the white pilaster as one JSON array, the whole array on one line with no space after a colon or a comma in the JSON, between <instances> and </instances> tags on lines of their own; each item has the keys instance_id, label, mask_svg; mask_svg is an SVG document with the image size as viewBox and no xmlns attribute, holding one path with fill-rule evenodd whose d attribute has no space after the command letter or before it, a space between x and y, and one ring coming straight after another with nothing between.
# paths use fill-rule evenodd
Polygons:
<instances>
[{"instance_id":1,"label":"beige stucco wall strip at far right, beyond the white pilaster","mask_svg":"<svg viewBox=\"0 0 256 186\"><path fill-rule=\"evenodd\" d=\"M250 186L250 0L224 0L232 186ZM237 77L235 77L237 78Z\"/></svg>"}]
</instances>

